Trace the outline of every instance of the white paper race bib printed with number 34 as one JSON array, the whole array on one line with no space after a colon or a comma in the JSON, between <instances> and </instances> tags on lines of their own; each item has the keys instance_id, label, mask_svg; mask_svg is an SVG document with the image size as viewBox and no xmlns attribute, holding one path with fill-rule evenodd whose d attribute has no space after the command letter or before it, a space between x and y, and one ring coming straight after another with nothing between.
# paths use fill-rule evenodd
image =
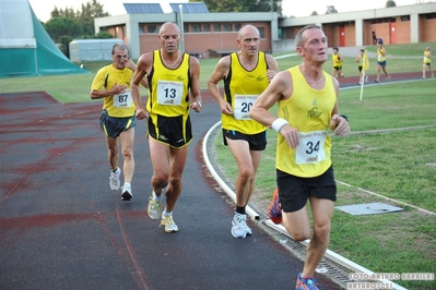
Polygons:
<instances>
[{"instance_id":1,"label":"white paper race bib printed with number 34","mask_svg":"<svg viewBox=\"0 0 436 290\"><path fill-rule=\"evenodd\" d=\"M317 164L326 159L323 150L327 131L299 133L299 145L295 149L295 162Z\"/></svg>"}]
</instances>

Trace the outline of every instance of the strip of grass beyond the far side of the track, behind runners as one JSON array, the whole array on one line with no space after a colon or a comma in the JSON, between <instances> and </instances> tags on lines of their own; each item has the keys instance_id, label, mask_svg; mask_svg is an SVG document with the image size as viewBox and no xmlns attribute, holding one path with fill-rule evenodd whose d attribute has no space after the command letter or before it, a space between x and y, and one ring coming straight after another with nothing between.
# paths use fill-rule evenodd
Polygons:
<instances>
[{"instance_id":1,"label":"strip of grass beyond the far side of the track, behind runners","mask_svg":"<svg viewBox=\"0 0 436 290\"><path fill-rule=\"evenodd\" d=\"M388 72L415 72L422 70L422 55L426 46L436 47L436 43L421 43L411 45L390 45L386 46L388 50ZM368 47L369 51L375 52L376 47ZM295 52L295 51L290 51ZM356 56L358 49L356 49ZM390 55L394 53L393 57ZM281 53L283 55L283 53ZM356 57L355 56L355 57ZM355 57L345 57L343 64L343 73L346 76L357 76L357 64L355 63ZM410 57L410 58L404 58ZM413 57L413 58L412 58ZM420 59L416 59L416 58ZM133 60L137 62L137 60ZM201 75L200 75L200 87L201 89L208 88L208 80L215 69L217 59L201 59ZM330 60L329 60L330 61ZM326 63L325 69L330 72L330 62ZM27 77L7 77L0 78L0 94L2 93L19 93L19 92L47 92L58 100L62 102L87 102L87 101L101 101L91 100L90 89L91 83L94 78L95 73L103 65L109 64L110 62L95 61L84 62L85 69L91 71L90 74L81 75L57 75L57 76L27 76ZM290 57L278 60L280 70L285 70L290 67L301 63L298 56ZM367 74L376 74L376 62L372 60ZM148 92L143 88L142 95L146 95Z\"/></svg>"}]
</instances>

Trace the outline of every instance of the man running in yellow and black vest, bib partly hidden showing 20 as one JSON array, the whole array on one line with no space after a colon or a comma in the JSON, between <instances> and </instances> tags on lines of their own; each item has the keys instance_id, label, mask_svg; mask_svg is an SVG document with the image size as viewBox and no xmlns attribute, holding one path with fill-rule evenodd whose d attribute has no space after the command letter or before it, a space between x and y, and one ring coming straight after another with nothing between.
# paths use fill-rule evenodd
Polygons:
<instances>
[{"instance_id":1,"label":"man running in yellow and black vest, bib partly hidden showing 20","mask_svg":"<svg viewBox=\"0 0 436 290\"><path fill-rule=\"evenodd\" d=\"M236 210L232 234L252 234L247 226L246 206L255 190L256 171L267 146L267 128L249 117L257 97L279 72L274 58L259 51L259 31L245 25L236 40L240 50L223 57L215 67L208 87L221 108L224 145L227 145L238 167L236 179ZM224 82L224 97L217 84Z\"/></svg>"}]
</instances>

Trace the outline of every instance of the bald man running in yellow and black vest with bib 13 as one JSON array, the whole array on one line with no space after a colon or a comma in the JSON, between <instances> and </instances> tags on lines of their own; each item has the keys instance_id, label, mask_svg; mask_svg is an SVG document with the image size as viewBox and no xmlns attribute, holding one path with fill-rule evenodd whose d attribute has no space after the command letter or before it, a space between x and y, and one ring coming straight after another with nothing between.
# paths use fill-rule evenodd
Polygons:
<instances>
[{"instance_id":1,"label":"bald man running in yellow and black vest with bib 13","mask_svg":"<svg viewBox=\"0 0 436 290\"><path fill-rule=\"evenodd\" d=\"M178 49L180 31L175 23L161 26L158 39L162 48L144 53L138 60L133 75L132 97L137 118L148 121L148 138L153 165L148 214L158 219L165 191L166 205L161 226L166 232L178 231L173 209L181 194L182 172L192 141L189 110L201 111L200 62ZM146 75L149 98L146 109L140 101L139 85Z\"/></svg>"}]
</instances>

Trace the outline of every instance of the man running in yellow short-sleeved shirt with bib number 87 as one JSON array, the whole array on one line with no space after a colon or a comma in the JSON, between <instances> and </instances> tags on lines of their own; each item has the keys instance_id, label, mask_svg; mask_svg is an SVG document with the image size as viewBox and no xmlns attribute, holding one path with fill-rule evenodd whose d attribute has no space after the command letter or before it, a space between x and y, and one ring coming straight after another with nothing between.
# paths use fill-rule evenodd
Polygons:
<instances>
[{"instance_id":1,"label":"man running in yellow short-sleeved shirt with bib number 87","mask_svg":"<svg viewBox=\"0 0 436 290\"><path fill-rule=\"evenodd\" d=\"M110 189L119 190L121 169L118 167L118 145L121 143L123 157L125 184L121 200L132 198L131 182L134 171L134 105L130 85L134 63L129 57L125 44L115 44L111 50L113 63L98 70L91 86L91 98L104 98L99 125L106 135L108 159L110 165ZM145 83L143 82L143 85Z\"/></svg>"}]
</instances>

